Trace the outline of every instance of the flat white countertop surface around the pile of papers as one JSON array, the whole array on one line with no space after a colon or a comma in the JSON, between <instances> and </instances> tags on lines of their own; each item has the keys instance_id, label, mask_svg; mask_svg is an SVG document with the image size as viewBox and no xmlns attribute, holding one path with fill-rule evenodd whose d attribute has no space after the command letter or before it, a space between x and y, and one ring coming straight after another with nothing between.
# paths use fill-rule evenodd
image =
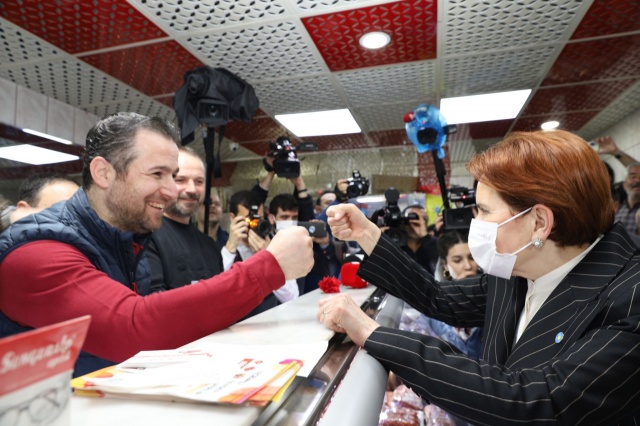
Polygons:
<instances>
[{"instance_id":1,"label":"flat white countertop surface around the pile of papers","mask_svg":"<svg viewBox=\"0 0 640 426\"><path fill-rule=\"evenodd\" d=\"M362 304L375 290L341 287ZM328 342L334 333L317 319L318 301L328 297L319 290L305 294L291 302L277 306L228 329L204 337L201 342L238 344L286 344ZM190 345L187 345L190 346ZM119 398L87 398L73 396L71 426L165 426L165 425L251 425L262 408L229 407L209 404L190 404Z\"/></svg>"}]
</instances>

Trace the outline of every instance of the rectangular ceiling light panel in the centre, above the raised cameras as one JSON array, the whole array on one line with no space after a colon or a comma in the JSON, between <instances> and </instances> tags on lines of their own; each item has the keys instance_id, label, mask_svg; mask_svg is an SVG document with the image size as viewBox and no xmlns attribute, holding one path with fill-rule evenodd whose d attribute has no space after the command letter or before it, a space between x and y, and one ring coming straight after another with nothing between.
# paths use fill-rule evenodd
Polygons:
<instances>
[{"instance_id":1,"label":"rectangular ceiling light panel in the centre, above the raised cameras","mask_svg":"<svg viewBox=\"0 0 640 426\"><path fill-rule=\"evenodd\" d=\"M298 137L360 133L348 109L276 115L276 120Z\"/></svg>"}]
</instances>

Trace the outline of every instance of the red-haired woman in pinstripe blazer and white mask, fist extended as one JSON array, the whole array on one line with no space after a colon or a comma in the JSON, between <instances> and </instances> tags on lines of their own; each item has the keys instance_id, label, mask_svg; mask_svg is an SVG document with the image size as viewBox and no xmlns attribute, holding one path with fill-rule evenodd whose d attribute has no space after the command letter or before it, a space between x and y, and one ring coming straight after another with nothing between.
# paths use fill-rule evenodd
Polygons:
<instances>
[{"instance_id":1,"label":"red-haired woman in pinstripe blazer and white mask, fist extended","mask_svg":"<svg viewBox=\"0 0 640 426\"><path fill-rule=\"evenodd\" d=\"M323 299L318 319L476 425L637 424L640 258L613 223L602 160L578 136L540 131L512 133L467 168L480 276L438 282L355 206L327 213L333 235L367 253L362 278L428 316L484 327L482 357L381 327L343 294Z\"/></svg>"}]
</instances>

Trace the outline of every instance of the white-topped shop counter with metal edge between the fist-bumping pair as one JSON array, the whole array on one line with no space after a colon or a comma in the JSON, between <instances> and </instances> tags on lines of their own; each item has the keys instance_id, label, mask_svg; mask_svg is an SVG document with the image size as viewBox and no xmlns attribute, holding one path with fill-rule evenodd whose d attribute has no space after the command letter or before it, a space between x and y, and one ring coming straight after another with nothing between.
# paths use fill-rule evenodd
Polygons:
<instances>
[{"instance_id":1,"label":"white-topped shop counter with metal edge between the fist-bumping pair","mask_svg":"<svg viewBox=\"0 0 640 426\"><path fill-rule=\"evenodd\" d=\"M396 327L403 303L375 287L341 288L369 316ZM266 407L225 406L134 398L71 398L71 425L375 426L388 372L345 334L317 319L319 290L242 321L202 342L251 344L327 341L327 350L305 376L297 376L278 402ZM187 345L187 346L190 346Z\"/></svg>"}]
</instances>

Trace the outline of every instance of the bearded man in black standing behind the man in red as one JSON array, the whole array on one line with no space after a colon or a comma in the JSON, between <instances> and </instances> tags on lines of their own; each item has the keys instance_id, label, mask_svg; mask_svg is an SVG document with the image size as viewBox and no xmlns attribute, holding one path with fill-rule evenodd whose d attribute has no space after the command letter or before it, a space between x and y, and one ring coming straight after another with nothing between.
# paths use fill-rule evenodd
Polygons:
<instances>
[{"instance_id":1,"label":"bearded man in black standing behind the man in red","mask_svg":"<svg viewBox=\"0 0 640 426\"><path fill-rule=\"evenodd\" d=\"M204 200L204 162L188 147L180 148L178 198L167 203L162 227L151 235L145 251L151 267L151 292L193 284L223 271L216 242L191 218Z\"/></svg>"}]
</instances>

